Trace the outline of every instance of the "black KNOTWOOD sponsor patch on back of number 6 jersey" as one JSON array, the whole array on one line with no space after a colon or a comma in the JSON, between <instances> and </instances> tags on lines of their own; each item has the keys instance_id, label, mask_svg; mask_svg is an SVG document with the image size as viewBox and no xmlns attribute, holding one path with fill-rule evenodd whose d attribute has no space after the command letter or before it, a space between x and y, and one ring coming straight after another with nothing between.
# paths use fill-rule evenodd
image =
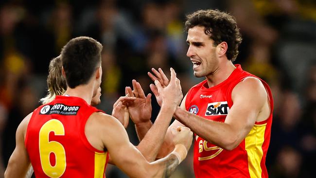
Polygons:
<instances>
[{"instance_id":1,"label":"black KNOTWOOD sponsor patch on back of number 6 jersey","mask_svg":"<svg viewBox=\"0 0 316 178\"><path fill-rule=\"evenodd\" d=\"M67 106L64 104L46 105L41 108L39 114L61 114L61 115L77 115L78 106Z\"/></svg>"}]
</instances>

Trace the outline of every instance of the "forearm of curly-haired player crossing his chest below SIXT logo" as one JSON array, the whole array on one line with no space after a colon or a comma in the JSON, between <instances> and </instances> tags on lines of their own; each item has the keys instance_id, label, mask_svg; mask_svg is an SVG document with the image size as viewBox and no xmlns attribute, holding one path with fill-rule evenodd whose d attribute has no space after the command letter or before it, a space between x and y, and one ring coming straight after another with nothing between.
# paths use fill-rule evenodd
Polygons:
<instances>
[{"instance_id":1,"label":"forearm of curly-haired player crossing his chest below SIXT logo","mask_svg":"<svg viewBox=\"0 0 316 178\"><path fill-rule=\"evenodd\" d=\"M238 135L230 125L211 121L189 113L180 107L176 108L176 120L189 127L196 135L224 149L232 149Z\"/></svg>"}]
</instances>

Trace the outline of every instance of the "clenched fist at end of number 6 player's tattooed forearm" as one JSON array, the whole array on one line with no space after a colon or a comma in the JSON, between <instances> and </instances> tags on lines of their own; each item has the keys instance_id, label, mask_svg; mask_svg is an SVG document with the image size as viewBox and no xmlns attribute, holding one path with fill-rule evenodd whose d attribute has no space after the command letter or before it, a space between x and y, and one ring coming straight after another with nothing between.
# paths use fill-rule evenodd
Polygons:
<instances>
[{"instance_id":1,"label":"clenched fist at end of number 6 player's tattooed forearm","mask_svg":"<svg viewBox=\"0 0 316 178\"><path fill-rule=\"evenodd\" d=\"M193 139L193 132L188 127L178 126L172 127L171 133L173 135L174 144L183 144L187 151L190 149Z\"/></svg>"}]
</instances>

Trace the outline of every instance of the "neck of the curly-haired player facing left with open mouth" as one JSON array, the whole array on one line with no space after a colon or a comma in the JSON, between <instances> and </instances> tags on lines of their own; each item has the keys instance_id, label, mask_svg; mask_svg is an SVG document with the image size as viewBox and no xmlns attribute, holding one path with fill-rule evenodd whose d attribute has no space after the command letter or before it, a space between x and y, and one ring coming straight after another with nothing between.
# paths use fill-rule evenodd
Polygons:
<instances>
[{"instance_id":1,"label":"neck of the curly-haired player facing left with open mouth","mask_svg":"<svg viewBox=\"0 0 316 178\"><path fill-rule=\"evenodd\" d=\"M234 71L236 67L233 65L231 61L224 62L220 64L217 71L206 76L206 80L208 81L209 88L214 87L223 81L225 81L229 75Z\"/></svg>"}]
</instances>

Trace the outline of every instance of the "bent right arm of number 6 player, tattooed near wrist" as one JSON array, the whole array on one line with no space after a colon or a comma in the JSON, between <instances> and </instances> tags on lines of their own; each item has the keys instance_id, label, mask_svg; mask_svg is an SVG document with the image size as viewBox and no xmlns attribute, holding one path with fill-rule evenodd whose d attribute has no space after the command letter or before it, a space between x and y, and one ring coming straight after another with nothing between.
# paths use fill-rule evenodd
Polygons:
<instances>
[{"instance_id":1,"label":"bent right arm of number 6 player, tattooed near wrist","mask_svg":"<svg viewBox=\"0 0 316 178\"><path fill-rule=\"evenodd\" d=\"M96 135L99 135L112 161L131 178L168 177L178 165L176 154L181 155L182 160L185 157L183 154L185 149L178 148L179 150L175 150L176 153L149 163L129 142L127 133L119 121L103 113L98 113L93 120L89 122L95 123L94 132L98 133Z\"/></svg>"}]
</instances>

